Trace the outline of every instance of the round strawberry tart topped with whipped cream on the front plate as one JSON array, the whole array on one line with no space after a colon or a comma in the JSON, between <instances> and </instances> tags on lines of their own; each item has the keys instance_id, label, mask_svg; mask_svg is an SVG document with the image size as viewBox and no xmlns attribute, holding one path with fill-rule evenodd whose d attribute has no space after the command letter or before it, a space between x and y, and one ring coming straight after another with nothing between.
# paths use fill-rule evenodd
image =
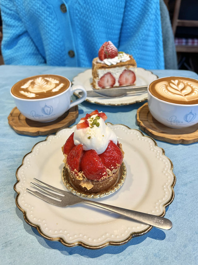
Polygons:
<instances>
[{"instance_id":1,"label":"round strawberry tart topped with whipped cream on the front plate","mask_svg":"<svg viewBox=\"0 0 198 265\"><path fill-rule=\"evenodd\" d=\"M104 192L118 179L124 152L106 119L97 110L86 114L62 146L67 171L63 174L69 175L70 184L80 192Z\"/></svg>"}]
</instances>

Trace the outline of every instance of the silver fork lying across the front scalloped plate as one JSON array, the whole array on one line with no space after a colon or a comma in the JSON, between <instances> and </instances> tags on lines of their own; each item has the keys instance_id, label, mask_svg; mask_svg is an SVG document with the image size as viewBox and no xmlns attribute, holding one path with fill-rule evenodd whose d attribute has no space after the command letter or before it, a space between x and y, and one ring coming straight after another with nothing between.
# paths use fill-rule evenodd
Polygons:
<instances>
[{"instance_id":1,"label":"silver fork lying across the front scalloped plate","mask_svg":"<svg viewBox=\"0 0 198 265\"><path fill-rule=\"evenodd\" d=\"M110 212L118 213L122 216L129 217L135 221L138 221L138 222L150 225L150 226L155 226L157 228L161 228L161 229L165 229L165 230L169 230L172 228L172 222L167 218L164 218L161 216L156 216L153 214L128 210L128 209L124 209L124 208L120 208L120 207L116 207L116 206L112 206L112 205L108 205L108 204L104 204L104 203L98 203L98 202L87 200L87 199L82 199L79 196L76 196L76 195L74 195L68 191L60 190L60 189L55 188L49 184L46 184L45 182L42 182L41 180L38 180L35 178L34 178L34 180L36 180L40 185L48 188L49 190L52 190L52 191L59 193L59 194L55 194L53 192L45 190L44 188L40 187L37 184L31 182L30 184L32 184L38 190L41 190L42 192L58 199L58 200L55 200L55 199L49 198L48 196L45 196L44 194L42 194L38 191L26 189L26 190L28 190L28 192L32 193L34 196L44 200L47 203L51 203L51 204L59 206L59 207L66 207L66 206L74 205L77 203L86 203L86 204L91 204L93 206L105 209L105 210L110 211Z\"/></svg>"}]
</instances>

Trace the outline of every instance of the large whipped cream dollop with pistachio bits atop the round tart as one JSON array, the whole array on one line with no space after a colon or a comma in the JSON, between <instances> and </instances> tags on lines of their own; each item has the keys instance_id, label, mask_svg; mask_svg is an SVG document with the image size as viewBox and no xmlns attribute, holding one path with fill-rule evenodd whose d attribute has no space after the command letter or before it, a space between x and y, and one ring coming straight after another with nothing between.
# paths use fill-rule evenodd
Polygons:
<instances>
[{"instance_id":1,"label":"large whipped cream dollop with pistachio bits atop the round tart","mask_svg":"<svg viewBox=\"0 0 198 265\"><path fill-rule=\"evenodd\" d=\"M93 125L93 121L97 116L98 115L95 114L87 119L89 127L82 129L75 128L74 144L83 144L83 150L94 149L99 155L106 150L109 141L113 141L114 144L117 144L118 139L114 131L105 124L105 121L102 118L97 119L99 124ZM81 120L79 123L82 122L84 121Z\"/></svg>"}]
</instances>

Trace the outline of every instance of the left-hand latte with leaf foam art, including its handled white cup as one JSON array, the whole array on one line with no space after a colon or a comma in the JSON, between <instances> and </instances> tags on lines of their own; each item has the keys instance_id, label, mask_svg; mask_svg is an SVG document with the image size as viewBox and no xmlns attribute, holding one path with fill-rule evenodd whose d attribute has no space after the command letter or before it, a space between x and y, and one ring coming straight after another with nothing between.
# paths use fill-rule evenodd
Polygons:
<instances>
[{"instance_id":1,"label":"left-hand latte with leaf foam art, including its handled white cup","mask_svg":"<svg viewBox=\"0 0 198 265\"><path fill-rule=\"evenodd\" d=\"M74 91L83 91L83 96L71 102ZM16 107L32 121L54 121L68 109L80 104L87 97L86 89L73 85L59 75L36 75L25 78L11 88Z\"/></svg>"}]
</instances>

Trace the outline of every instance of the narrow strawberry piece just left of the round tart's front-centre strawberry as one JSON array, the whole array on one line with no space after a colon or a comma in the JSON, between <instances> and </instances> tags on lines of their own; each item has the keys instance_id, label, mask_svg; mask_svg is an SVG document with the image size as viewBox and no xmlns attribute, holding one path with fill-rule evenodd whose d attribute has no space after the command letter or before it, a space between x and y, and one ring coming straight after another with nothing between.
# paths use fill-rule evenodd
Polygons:
<instances>
[{"instance_id":1,"label":"narrow strawberry piece just left of the round tart's front-centre strawberry","mask_svg":"<svg viewBox=\"0 0 198 265\"><path fill-rule=\"evenodd\" d=\"M67 163L72 171L75 169L79 172L80 171L80 160L83 154L83 145L78 144L75 145L70 151L67 156ZM77 172L75 171L77 174Z\"/></svg>"}]
</instances>

